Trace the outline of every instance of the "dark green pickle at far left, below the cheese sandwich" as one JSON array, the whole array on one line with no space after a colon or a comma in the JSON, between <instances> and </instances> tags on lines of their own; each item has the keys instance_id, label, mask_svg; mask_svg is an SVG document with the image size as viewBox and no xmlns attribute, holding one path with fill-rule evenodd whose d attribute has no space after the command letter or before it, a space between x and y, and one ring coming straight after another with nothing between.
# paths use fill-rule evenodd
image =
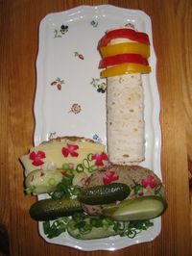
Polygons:
<instances>
[{"instance_id":1,"label":"dark green pickle at far left, below the cheese sandwich","mask_svg":"<svg viewBox=\"0 0 192 256\"><path fill-rule=\"evenodd\" d=\"M30 208L30 215L38 221L52 220L82 211L81 203L76 199L43 199L36 201Z\"/></svg>"}]
</instances>

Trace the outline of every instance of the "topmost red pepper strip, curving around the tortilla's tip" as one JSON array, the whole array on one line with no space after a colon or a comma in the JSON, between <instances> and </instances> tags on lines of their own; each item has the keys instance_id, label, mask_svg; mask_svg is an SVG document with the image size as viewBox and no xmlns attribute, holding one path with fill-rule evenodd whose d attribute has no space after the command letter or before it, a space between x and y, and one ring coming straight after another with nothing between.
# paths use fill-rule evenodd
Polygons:
<instances>
[{"instance_id":1,"label":"topmost red pepper strip, curving around the tortilla's tip","mask_svg":"<svg viewBox=\"0 0 192 256\"><path fill-rule=\"evenodd\" d=\"M150 44L149 37L146 33L136 32L132 29L123 28L123 29L108 31L107 34L100 39L98 44L98 49L102 46L107 46L108 42L110 42L110 40L114 38L129 38L133 41Z\"/></svg>"}]
</instances>

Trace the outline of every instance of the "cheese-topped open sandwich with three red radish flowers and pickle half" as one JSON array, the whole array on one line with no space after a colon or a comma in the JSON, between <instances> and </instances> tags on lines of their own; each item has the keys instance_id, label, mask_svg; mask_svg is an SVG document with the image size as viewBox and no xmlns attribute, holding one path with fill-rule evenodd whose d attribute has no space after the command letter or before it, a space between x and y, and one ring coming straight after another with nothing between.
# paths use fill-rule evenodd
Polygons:
<instances>
[{"instance_id":1,"label":"cheese-topped open sandwich with three red radish flowers and pickle half","mask_svg":"<svg viewBox=\"0 0 192 256\"><path fill-rule=\"evenodd\" d=\"M82 137L62 137L31 148L20 161L25 168L26 192L39 194L53 192L66 170L77 173L84 170L84 177L74 180L84 184L84 178L104 166L108 156L102 143Z\"/></svg>"}]
</instances>

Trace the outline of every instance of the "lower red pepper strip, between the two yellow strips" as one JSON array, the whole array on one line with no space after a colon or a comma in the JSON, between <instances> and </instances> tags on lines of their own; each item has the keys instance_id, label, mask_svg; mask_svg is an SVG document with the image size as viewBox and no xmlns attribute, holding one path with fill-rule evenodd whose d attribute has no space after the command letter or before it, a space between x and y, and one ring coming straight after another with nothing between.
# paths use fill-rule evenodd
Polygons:
<instances>
[{"instance_id":1,"label":"lower red pepper strip, between the two yellow strips","mask_svg":"<svg viewBox=\"0 0 192 256\"><path fill-rule=\"evenodd\" d=\"M114 56L105 57L101 60L99 64L99 68L105 68L109 65L124 64L124 63L149 65L147 59L143 58L140 54L130 53L130 54L118 54Z\"/></svg>"}]
</instances>

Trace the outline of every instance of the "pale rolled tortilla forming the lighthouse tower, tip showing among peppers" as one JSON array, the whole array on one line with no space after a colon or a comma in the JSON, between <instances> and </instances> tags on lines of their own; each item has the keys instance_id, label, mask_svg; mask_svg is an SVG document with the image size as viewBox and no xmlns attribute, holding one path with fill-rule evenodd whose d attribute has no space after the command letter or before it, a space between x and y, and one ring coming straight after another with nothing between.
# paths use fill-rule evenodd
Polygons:
<instances>
[{"instance_id":1,"label":"pale rolled tortilla forming the lighthouse tower, tip showing among peppers","mask_svg":"<svg viewBox=\"0 0 192 256\"><path fill-rule=\"evenodd\" d=\"M110 44L131 41L112 39ZM141 74L108 77L108 159L116 165L138 165L145 159L144 96Z\"/></svg>"}]
</instances>

